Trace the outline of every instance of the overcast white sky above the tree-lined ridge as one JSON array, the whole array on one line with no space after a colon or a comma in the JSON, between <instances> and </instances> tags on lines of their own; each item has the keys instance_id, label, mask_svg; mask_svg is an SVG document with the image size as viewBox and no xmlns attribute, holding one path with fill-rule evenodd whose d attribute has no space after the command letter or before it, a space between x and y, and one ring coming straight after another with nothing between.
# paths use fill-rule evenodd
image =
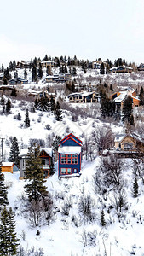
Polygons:
<instances>
[{"instance_id":1,"label":"overcast white sky above the tree-lined ridge","mask_svg":"<svg viewBox=\"0 0 144 256\"><path fill-rule=\"evenodd\" d=\"M7 0L0 65L44 55L144 62L144 0Z\"/></svg>"}]
</instances>

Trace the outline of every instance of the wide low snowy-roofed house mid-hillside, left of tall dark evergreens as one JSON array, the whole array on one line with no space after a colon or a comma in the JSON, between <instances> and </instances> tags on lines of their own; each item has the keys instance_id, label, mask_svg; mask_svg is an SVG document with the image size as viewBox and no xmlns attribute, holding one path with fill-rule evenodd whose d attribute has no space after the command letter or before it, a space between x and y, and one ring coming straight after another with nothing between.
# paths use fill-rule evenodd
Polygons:
<instances>
[{"instance_id":1,"label":"wide low snowy-roofed house mid-hillside, left of tall dark evergreens","mask_svg":"<svg viewBox=\"0 0 144 256\"><path fill-rule=\"evenodd\" d=\"M95 91L74 92L68 96L71 103L92 103L100 102L100 96L95 95Z\"/></svg>"}]
</instances>

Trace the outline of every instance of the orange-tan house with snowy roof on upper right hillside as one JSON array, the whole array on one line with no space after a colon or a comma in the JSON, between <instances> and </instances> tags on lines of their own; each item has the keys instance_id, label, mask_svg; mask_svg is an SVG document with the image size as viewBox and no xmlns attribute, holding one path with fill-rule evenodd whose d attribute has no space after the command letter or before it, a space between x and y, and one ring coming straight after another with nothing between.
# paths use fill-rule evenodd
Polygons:
<instances>
[{"instance_id":1,"label":"orange-tan house with snowy roof on upper right hillside","mask_svg":"<svg viewBox=\"0 0 144 256\"><path fill-rule=\"evenodd\" d=\"M110 99L112 99L115 102L117 108L120 107L122 110L126 96L130 96L132 98L133 107L140 106L140 99L138 96L136 96L135 90L126 90L126 91L115 92L112 94L112 96L110 96Z\"/></svg>"}]
</instances>

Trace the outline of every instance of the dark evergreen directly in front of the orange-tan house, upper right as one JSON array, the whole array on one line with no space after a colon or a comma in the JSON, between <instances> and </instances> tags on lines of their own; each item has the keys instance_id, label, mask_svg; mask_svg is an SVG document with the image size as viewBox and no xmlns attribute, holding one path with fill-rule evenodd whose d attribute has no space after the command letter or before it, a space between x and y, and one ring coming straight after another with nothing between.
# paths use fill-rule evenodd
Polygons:
<instances>
[{"instance_id":1,"label":"dark evergreen directly in front of the orange-tan house, upper right","mask_svg":"<svg viewBox=\"0 0 144 256\"><path fill-rule=\"evenodd\" d=\"M128 121L128 123L130 123L130 116L132 114L132 110L132 98L128 96L125 98L123 105L123 122Z\"/></svg>"}]
</instances>

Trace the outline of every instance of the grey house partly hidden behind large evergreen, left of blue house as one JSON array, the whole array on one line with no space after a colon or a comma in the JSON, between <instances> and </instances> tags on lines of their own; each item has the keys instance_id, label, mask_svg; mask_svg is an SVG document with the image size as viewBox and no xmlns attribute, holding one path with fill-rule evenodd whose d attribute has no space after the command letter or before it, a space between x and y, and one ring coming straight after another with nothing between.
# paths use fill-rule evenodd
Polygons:
<instances>
[{"instance_id":1,"label":"grey house partly hidden behind large evergreen, left of blue house","mask_svg":"<svg viewBox=\"0 0 144 256\"><path fill-rule=\"evenodd\" d=\"M41 148L39 157L42 160L44 177L49 177L50 164L53 157L52 148ZM21 149L20 152L20 179L24 178L26 171L26 159L28 158L28 148Z\"/></svg>"}]
</instances>

